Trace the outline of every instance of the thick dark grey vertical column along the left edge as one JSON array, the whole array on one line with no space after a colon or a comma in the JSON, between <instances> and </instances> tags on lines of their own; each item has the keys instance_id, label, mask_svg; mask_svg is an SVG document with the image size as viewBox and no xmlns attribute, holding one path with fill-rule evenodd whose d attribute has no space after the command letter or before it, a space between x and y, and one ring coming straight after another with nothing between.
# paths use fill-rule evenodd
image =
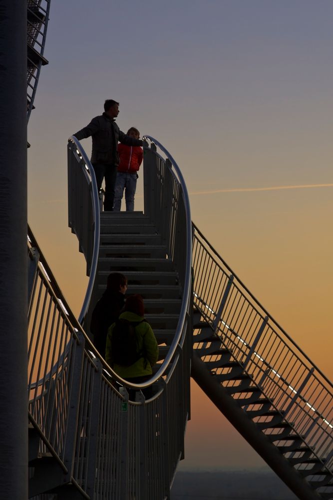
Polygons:
<instances>
[{"instance_id":1,"label":"thick dark grey vertical column along the left edge","mask_svg":"<svg viewBox=\"0 0 333 500\"><path fill-rule=\"evenodd\" d=\"M27 488L26 1L0 0L0 496Z\"/></svg>"}]
</instances>

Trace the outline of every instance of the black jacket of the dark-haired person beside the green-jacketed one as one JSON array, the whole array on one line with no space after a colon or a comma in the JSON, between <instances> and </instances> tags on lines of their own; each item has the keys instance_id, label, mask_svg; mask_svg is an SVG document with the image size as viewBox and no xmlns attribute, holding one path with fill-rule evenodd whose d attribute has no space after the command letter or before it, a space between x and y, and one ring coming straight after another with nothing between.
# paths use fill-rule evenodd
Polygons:
<instances>
[{"instance_id":1,"label":"black jacket of the dark-haired person beside the green-jacketed one","mask_svg":"<svg viewBox=\"0 0 333 500\"><path fill-rule=\"evenodd\" d=\"M92 311L90 331L94 346L102 357L105 357L107 330L118 319L124 303L123 293L106 289Z\"/></svg>"}]
</instances>

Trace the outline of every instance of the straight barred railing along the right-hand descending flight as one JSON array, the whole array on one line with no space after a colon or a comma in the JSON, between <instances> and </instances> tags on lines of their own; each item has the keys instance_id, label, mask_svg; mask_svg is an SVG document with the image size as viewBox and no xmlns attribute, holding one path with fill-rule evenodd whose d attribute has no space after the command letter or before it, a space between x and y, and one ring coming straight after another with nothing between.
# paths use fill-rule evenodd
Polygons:
<instances>
[{"instance_id":1,"label":"straight barred railing along the right-hand descending flight","mask_svg":"<svg viewBox=\"0 0 333 500\"><path fill-rule=\"evenodd\" d=\"M193 233L196 307L220 336L232 359L253 377L253 383L272 401L272 407L325 464L324 470L332 471L332 383L255 299L194 224ZM296 468L304 466L299 464Z\"/></svg>"}]
</instances>

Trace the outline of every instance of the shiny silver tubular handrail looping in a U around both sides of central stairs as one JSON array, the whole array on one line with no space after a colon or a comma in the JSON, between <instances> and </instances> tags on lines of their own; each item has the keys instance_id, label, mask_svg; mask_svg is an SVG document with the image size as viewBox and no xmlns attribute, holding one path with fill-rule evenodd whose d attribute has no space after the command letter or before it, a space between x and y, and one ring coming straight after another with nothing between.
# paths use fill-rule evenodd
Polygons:
<instances>
[{"instance_id":1,"label":"shiny silver tubular handrail looping in a U around both sides of central stairs","mask_svg":"<svg viewBox=\"0 0 333 500\"><path fill-rule=\"evenodd\" d=\"M174 353L177 349L177 346L183 345L183 340L184 340L184 323L186 319L186 312L188 308L188 303L190 300L190 292L191 292L191 269L192 269L192 222L191 222L191 209L190 209L190 202L189 202L189 196L185 184L184 177L180 171L179 166L177 165L176 161L174 158L171 156L171 154L167 151L167 149L156 139L151 137L150 135L144 135L143 138L148 139L149 141L153 142L156 144L167 156L167 158L170 160L175 172L177 173L178 179L176 178L177 182L179 182L182 193L183 193L183 199L184 199L184 206L185 206L185 214L186 214L186 271L185 271L185 282L184 282L184 293L183 293L183 301L182 301L182 306L179 314L179 320L177 323L177 328L176 328L176 334L175 337L170 345L168 354L166 355L163 363L161 364L160 368L158 371L151 376L149 380L146 382L141 382L141 383L132 383L129 382L128 380L125 380L124 378L121 378L112 368L109 366L103 358L100 357L99 353L96 351L96 349L92 346L92 343L90 339L88 339L90 346L90 350L94 353L96 357L99 357L103 367L105 367L106 371L114 378L117 382L119 382L121 385L126 385L131 388L137 388L137 389L142 389L145 387L148 387L152 383L156 382L165 372L167 366L169 365L172 357L174 356ZM77 150L79 151L80 155L82 156L83 161L85 162L87 168L93 172L92 165L90 163L89 158L87 157L82 145L80 142L74 137L73 135L69 137L69 141L71 140L75 146L77 147ZM174 172L172 172L174 174ZM89 277L89 283L88 283L88 288L91 288L90 290L86 291L86 295L84 298L84 303L82 305L81 313L79 316L79 322L81 323L84 314L88 308L90 297L91 297L91 291L92 291L92 286L94 279L92 279L92 276L95 276L96 273L96 268L97 268L97 259L98 259L98 249L99 249L99 197L98 197L98 192L97 192L97 183L94 175L91 175L91 178L94 178L95 182L92 181L92 191L93 191L93 199L94 203L98 202L98 239L97 239L97 233L95 232L95 237L94 237L94 248L93 248L93 262L91 264L91 272L90 272L90 277ZM97 222L97 220L96 220ZM95 225L97 223L95 222ZM96 230L96 227L95 227ZM95 256L95 260L94 260ZM95 268L96 266L96 268ZM86 336L86 335L85 335ZM86 337L87 338L87 337ZM156 394L158 395L158 393ZM154 398L156 398L156 395Z\"/></svg>"}]
</instances>

